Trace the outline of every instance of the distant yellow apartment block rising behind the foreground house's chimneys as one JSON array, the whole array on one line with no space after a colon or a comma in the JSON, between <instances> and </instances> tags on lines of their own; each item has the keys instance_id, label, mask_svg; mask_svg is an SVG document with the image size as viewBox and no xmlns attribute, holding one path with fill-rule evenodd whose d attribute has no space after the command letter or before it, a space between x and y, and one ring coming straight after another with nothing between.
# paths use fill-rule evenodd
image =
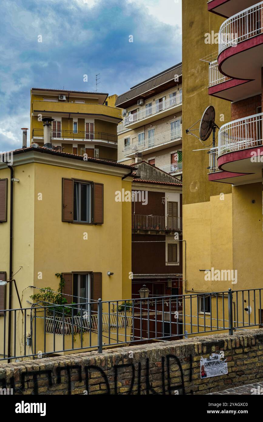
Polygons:
<instances>
[{"instance_id":1,"label":"distant yellow apartment block rising behind the foreground house's chimneys","mask_svg":"<svg viewBox=\"0 0 263 422\"><path fill-rule=\"evenodd\" d=\"M30 142L43 146L42 118L53 119L52 143L76 155L117 160L117 125L121 110L117 95L32 88L30 94Z\"/></svg>"}]
</instances>

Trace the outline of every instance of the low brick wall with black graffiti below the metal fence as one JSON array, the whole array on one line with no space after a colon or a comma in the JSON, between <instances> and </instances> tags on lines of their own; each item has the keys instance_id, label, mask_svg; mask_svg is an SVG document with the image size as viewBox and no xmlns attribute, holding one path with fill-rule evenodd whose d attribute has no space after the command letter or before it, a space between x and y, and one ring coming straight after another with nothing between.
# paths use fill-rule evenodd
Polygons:
<instances>
[{"instance_id":1,"label":"low brick wall with black graffiti below the metal fence","mask_svg":"<svg viewBox=\"0 0 263 422\"><path fill-rule=\"evenodd\" d=\"M228 374L201 379L200 359L224 350ZM263 381L263 330L0 365L14 394L207 394ZM2 385L1 385L2 384Z\"/></svg>"}]
</instances>

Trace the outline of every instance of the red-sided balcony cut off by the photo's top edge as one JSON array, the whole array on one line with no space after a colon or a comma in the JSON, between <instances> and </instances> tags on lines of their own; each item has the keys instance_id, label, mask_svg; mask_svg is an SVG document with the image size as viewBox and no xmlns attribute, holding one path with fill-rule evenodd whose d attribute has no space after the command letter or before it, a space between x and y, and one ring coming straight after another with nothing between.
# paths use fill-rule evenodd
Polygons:
<instances>
[{"instance_id":1,"label":"red-sided balcony cut off by the photo's top edge","mask_svg":"<svg viewBox=\"0 0 263 422\"><path fill-rule=\"evenodd\" d=\"M255 0L208 0L207 7L209 12L229 18L253 4Z\"/></svg>"}]
</instances>

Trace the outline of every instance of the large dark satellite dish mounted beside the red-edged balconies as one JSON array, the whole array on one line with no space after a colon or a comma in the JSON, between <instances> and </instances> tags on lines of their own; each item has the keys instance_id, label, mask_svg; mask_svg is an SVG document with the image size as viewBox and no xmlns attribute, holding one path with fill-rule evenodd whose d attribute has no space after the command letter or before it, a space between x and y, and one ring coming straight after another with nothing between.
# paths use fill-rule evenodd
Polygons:
<instances>
[{"instance_id":1,"label":"large dark satellite dish mounted beside the red-edged balconies","mask_svg":"<svg viewBox=\"0 0 263 422\"><path fill-rule=\"evenodd\" d=\"M199 128L195 128L196 124L199 124ZM199 141L203 144L203 142L207 141L211 133L213 132L213 148L215 147L215 131L219 129L217 124L215 123L215 108L213 106L209 106L205 109L204 114L201 119L199 119L196 123L194 123L189 129L186 129L186 133L188 135L193 135L195 138L199 139ZM193 130L199 130L199 136L196 136ZM203 144L204 145L204 144Z\"/></svg>"}]
</instances>

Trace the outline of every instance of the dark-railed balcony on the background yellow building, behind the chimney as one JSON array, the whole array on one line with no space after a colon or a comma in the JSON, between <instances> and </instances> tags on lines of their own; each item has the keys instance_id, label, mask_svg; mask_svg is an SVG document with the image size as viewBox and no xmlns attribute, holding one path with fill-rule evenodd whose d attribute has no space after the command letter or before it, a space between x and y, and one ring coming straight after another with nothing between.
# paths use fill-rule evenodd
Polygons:
<instances>
[{"instance_id":1,"label":"dark-railed balcony on the background yellow building, behind the chimney","mask_svg":"<svg viewBox=\"0 0 263 422\"><path fill-rule=\"evenodd\" d=\"M43 139L43 129L33 129L32 138L35 141L38 139ZM81 141L85 143L96 142L97 144L101 145L110 143L111 145L116 146L118 143L118 136L112 135L111 133L85 131L74 132L73 130L53 130L52 139L63 143L68 143L68 141L71 143L75 141Z\"/></svg>"}]
</instances>

